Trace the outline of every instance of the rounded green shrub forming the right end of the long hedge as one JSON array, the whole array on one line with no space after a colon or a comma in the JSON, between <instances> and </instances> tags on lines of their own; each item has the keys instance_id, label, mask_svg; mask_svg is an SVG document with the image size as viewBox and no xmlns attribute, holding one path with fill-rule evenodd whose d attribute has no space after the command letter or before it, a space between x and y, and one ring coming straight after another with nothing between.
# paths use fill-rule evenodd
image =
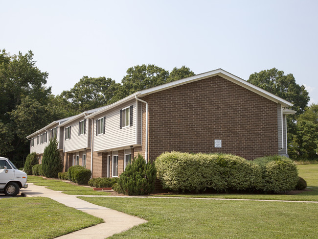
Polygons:
<instances>
[{"instance_id":1,"label":"rounded green shrub forming the right end of the long hedge","mask_svg":"<svg viewBox=\"0 0 318 239\"><path fill-rule=\"evenodd\" d=\"M253 163L261 167L263 191L277 193L295 189L298 172L292 160L274 155L255 159Z\"/></svg>"}]
</instances>

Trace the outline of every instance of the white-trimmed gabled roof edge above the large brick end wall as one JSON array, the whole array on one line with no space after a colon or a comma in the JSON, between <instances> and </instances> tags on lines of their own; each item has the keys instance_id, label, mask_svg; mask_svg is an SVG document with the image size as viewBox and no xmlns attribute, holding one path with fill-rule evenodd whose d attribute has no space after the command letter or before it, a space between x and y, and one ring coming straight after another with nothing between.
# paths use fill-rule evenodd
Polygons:
<instances>
[{"instance_id":1,"label":"white-trimmed gabled roof edge above the large brick end wall","mask_svg":"<svg viewBox=\"0 0 318 239\"><path fill-rule=\"evenodd\" d=\"M260 96L263 96L265 98L268 98L276 103L279 103L281 104L282 106L284 107L288 107L288 106L292 106L293 104L279 96L275 96L274 94L268 92L268 91L265 91L264 89L258 87L258 86L255 86L253 84L251 84L250 82L246 81L246 80L243 80L239 77L237 77L236 75L233 75L229 72L226 72L224 70L222 70L221 68L220 69L217 69L217 70L214 70L214 71L210 71L210 72L205 72L205 73L201 73L201 74L197 74L197 75L193 75L193 76L190 76L190 77L187 77L187 78L184 78L184 79L180 79L180 80L176 80L176 81L172 81L172 82L169 82L169 83L166 83L166 84L163 84L163 85L159 85L159 86L155 86L155 87L152 87L152 88L149 88L149 89L146 89L146 90L142 90L142 91L138 91L130 96L127 96L111 105L108 105L94 113L92 113L91 115L89 116L86 116L85 118L93 118L95 115L98 115L100 113L103 113L105 111L108 111L112 108L114 108L115 106L121 104L121 103L124 103L126 101L129 101L133 98L135 98L136 96L137 97L143 97L143 96L148 96L150 94L153 94L153 93L156 93L156 92L159 92L159 91L164 91L164 90L167 90L167 89L170 89L170 88L173 88L173 87L177 87L177 86L180 86L180 85L184 85L184 84L188 84L188 83L191 83L191 82L195 82L195 81L198 81L198 80L202 80L202 79L205 79L205 78L209 78L209 77L212 77L212 76L216 76L216 75L219 75L239 86L242 86L248 90L250 90L251 92L254 92Z\"/></svg>"}]
</instances>

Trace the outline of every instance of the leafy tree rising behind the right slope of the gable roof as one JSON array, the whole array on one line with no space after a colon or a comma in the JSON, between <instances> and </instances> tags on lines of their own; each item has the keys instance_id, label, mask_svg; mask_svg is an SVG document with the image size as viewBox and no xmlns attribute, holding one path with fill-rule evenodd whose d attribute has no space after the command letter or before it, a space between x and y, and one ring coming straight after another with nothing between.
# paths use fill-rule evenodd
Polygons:
<instances>
[{"instance_id":1,"label":"leafy tree rising behind the right slope of the gable roof","mask_svg":"<svg viewBox=\"0 0 318 239\"><path fill-rule=\"evenodd\" d=\"M283 71L276 68L255 72L250 75L248 82L292 102L294 105L291 109L297 112L296 116L304 112L310 99L305 86L298 85L293 74L284 75Z\"/></svg>"}]
</instances>

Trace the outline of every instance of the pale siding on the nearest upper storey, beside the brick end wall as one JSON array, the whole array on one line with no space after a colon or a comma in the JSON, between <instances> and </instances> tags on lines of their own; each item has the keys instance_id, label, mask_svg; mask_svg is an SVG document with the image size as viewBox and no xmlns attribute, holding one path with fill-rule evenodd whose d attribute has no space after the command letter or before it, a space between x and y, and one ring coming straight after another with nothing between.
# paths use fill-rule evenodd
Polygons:
<instances>
[{"instance_id":1,"label":"pale siding on the nearest upper storey, beside the brick end wall","mask_svg":"<svg viewBox=\"0 0 318 239\"><path fill-rule=\"evenodd\" d=\"M133 126L120 129L120 110L133 106ZM114 108L95 118L94 132L96 132L96 119L104 117L105 134L94 136L94 151L113 149L136 144L136 100L130 101L125 107Z\"/></svg>"}]
</instances>

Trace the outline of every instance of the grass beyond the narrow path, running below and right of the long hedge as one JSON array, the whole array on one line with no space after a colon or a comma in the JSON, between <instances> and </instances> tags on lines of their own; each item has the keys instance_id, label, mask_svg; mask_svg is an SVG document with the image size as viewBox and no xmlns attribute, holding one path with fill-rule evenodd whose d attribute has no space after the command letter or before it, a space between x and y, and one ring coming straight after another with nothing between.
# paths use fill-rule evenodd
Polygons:
<instances>
[{"instance_id":1,"label":"grass beyond the narrow path, running below and right of the long hedge","mask_svg":"<svg viewBox=\"0 0 318 239\"><path fill-rule=\"evenodd\" d=\"M155 196L169 197L200 197L200 198L237 198L237 199L268 199L291 201L318 201L318 164L297 165L298 174L307 181L310 191L304 191L295 195L288 194L255 194L255 193L202 193L202 194L167 194Z\"/></svg>"}]
</instances>

